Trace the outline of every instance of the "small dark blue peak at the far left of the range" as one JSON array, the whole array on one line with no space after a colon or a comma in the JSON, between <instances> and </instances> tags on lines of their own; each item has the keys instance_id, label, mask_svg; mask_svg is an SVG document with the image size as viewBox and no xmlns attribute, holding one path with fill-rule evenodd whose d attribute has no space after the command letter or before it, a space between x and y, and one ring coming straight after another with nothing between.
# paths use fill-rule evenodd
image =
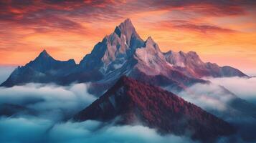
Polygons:
<instances>
[{"instance_id":1,"label":"small dark blue peak at the far left of the range","mask_svg":"<svg viewBox=\"0 0 256 143\"><path fill-rule=\"evenodd\" d=\"M74 59L58 61L53 59L44 50L34 61L30 61L25 66L18 66L14 69L9 78L1 86L12 87L17 84L26 84L29 82L57 82L57 79L60 77L70 74L75 66Z\"/></svg>"}]
</instances>

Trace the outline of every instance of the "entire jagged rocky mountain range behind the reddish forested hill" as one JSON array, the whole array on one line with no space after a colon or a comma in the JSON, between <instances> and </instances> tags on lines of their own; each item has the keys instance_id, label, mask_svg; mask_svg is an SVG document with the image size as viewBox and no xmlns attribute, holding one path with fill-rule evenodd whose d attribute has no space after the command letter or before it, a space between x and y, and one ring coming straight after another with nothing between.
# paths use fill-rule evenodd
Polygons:
<instances>
[{"instance_id":1,"label":"entire jagged rocky mountain range behind the reddish forested hill","mask_svg":"<svg viewBox=\"0 0 256 143\"><path fill-rule=\"evenodd\" d=\"M204 63L194 51L161 52L155 41L148 37L143 41L130 19L126 19L115 31L94 46L79 64L73 59L58 61L47 51L25 66L17 67L1 86L29 82L70 84L72 82L111 82L126 75L159 86L176 90L206 82L200 77L247 77L230 66ZM113 82L114 81L114 82Z\"/></svg>"}]
</instances>

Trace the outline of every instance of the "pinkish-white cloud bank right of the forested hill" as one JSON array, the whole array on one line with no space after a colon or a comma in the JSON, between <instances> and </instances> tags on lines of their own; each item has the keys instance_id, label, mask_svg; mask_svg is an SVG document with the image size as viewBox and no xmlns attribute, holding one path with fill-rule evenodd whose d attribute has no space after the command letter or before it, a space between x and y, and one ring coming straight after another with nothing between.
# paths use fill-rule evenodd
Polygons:
<instances>
[{"instance_id":1,"label":"pinkish-white cloud bank right of the forested hill","mask_svg":"<svg viewBox=\"0 0 256 143\"><path fill-rule=\"evenodd\" d=\"M224 111L227 103L240 97L256 105L256 77L206 78L211 84L194 84L177 93L186 101L203 109Z\"/></svg>"}]
</instances>

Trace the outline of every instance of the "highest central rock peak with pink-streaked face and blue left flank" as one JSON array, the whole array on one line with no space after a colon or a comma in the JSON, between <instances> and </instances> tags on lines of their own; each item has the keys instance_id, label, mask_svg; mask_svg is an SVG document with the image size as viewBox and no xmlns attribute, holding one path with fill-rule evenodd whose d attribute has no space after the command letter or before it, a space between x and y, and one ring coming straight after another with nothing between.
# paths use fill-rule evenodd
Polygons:
<instances>
[{"instance_id":1,"label":"highest central rock peak with pink-streaked face and blue left flank","mask_svg":"<svg viewBox=\"0 0 256 143\"><path fill-rule=\"evenodd\" d=\"M80 66L85 70L99 69L103 74L108 74L123 66L143 43L131 20L126 19L115 28L113 34L105 36L103 41L95 45L93 51L80 61Z\"/></svg>"}]
</instances>

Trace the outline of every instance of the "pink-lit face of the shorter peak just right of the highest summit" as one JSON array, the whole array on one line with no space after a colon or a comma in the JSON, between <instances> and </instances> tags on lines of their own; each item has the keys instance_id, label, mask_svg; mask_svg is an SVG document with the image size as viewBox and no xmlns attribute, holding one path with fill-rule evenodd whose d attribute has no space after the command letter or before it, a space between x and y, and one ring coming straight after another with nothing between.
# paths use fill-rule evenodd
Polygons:
<instances>
[{"instance_id":1,"label":"pink-lit face of the shorter peak just right of the highest summit","mask_svg":"<svg viewBox=\"0 0 256 143\"><path fill-rule=\"evenodd\" d=\"M147 81L150 84L165 86L161 81L166 79L166 82L168 83L166 85L171 84L182 88L194 83L205 82L202 79L187 77L185 74L172 68L160 51L158 44L156 44L151 37L148 37L144 46L136 49L132 59L136 64L134 64L133 69L126 75L140 81ZM158 78L160 78L160 80L158 80ZM153 82L148 79L153 80Z\"/></svg>"}]
</instances>

